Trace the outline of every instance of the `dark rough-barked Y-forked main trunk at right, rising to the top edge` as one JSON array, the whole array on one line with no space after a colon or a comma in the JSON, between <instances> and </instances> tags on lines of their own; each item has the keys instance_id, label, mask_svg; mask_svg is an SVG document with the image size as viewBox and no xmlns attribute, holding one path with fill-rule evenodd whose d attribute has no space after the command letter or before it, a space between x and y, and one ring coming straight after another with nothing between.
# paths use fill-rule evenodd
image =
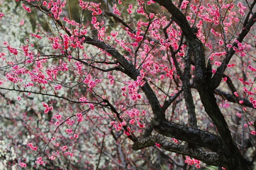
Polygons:
<instances>
[{"instance_id":1,"label":"dark rough-barked Y-forked main trunk at right, rising to the top edge","mask_svg":"<svg viewBox=\"0 0 256 170\"><path fill-rule=\"evenodd\" d=\"M195 57L195 82L196 88L199 92L201 101L204 105L204 109L212 119L213 123L216 125L220 137L223 141L222 150L219 150L218 153L222 154L223 161L225 162L226 169L241 169L246 170L250 169L250 166L246 160L242 157L241 152L239 151L236 143L234 142L228 124L225 121L223 114L221 113L218 104L216 103L216 98L214 96L214 89L219 86L220 80L222 78L222 73L224 72L226 65L230 61L231 57L234 55L234 50L230 49L226 58L222 62L222 65L217 69L218 74L215 74L211 81L206 79L206 64L205 64L205 55L204 49L201 41L199 41L193 33L192 28L188 24L185 15L174 5L170 0L156 0L160 5L164 6L171 14L171 19L174 20L181 27L183 34L186 36L187 45L191 49ZM254 19L256 14L254 14L248 23L245 25L244 30L240 33L238 41L241 42L252 25L255 23ZM237 47L237 43L234 43L233 46ZM168 136L168 129L162 128L159 123L158 129L160 134Z\"/></svg>"}]
</instances>

